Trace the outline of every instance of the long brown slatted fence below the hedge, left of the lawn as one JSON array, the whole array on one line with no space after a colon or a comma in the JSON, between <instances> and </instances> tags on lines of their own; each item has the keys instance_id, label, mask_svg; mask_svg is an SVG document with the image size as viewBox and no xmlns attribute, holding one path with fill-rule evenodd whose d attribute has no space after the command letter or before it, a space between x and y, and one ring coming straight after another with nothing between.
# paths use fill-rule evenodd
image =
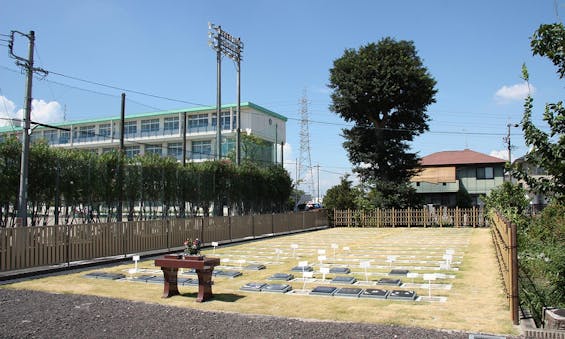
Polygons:
<instances>
[{"instance_id":1,"label":"long brown slatted fence below the hedge, left of the lawn","mask_svg":"<svg viewBox=\"0 0 565 339\"><path fill-rule=\"evenodd\" d=\"M0 228L0 271L171 251L187 238L229 243L328 226L315 212Z\"/></svg>"}]
</instances>

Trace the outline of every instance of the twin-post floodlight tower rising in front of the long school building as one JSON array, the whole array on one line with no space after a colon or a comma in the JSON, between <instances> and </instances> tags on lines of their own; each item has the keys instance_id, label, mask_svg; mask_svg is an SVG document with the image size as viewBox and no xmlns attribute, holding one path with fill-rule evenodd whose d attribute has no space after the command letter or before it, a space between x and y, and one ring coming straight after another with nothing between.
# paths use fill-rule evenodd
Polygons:
<instances>
[{"instance_id":1,"label":"twin-post floodlight tower rising in front of the long school building","mask_svg":"<svg viewBox=\"0 0 565 339\"><path fill-rule=\"evenodd\" d=\"M222 127L220 125L221 118L221 104L222 104L222 86L221 86L221 64L222 54L227 55L230 59L235 61L237 70L237 121L236 121L236 164L241 162L241 54L243 52L243 42L240 38L235 38L228 32L222 30L222 26L216 26L208 23L208 45L216 51L217 56L217 102L216 102L216 116L217 116L217 129L216 129L216 147L218 148L218 160L222 158Z\"/></svg>"}]
</instances>

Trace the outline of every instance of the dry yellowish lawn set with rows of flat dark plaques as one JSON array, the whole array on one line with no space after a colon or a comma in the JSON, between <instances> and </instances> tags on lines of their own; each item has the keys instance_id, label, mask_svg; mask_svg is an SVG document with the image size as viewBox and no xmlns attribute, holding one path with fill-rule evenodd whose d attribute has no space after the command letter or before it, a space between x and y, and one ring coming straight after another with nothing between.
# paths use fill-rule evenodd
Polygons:
<instances>
[{"instance_id":1,"label":"dry yellowish lawn set with rows of flat dark plaques","mask_svg":"<svg viewBox=\"0 0 565 339\"><path fill-rule=\"evenodd\" d=\"M297 244L293 251L291 244ZM334 247L332 248L332 244ZM345 250L349 247L349 250ZM279 253L276 253L278 249ZM454 250L452 269L439 270L445 250ZM361 261L370 261L369 280L377 281L387 277L390 269L406 268L420 273L414 283L406 287L354 286L330 284L329 282L306 283L306 289L316 286L360 287L382 289L410 289L419 296L427 297L429 290L422 280L423 273L445 273L449 277L433 283L449 285L450 288L432 289L432 296L444 297L444 302L394 301L364 298L343 298L278 294L266 292L245 292L240 287L248 282L286 283L294 290L302 290L302 281L269 281L274 273L291 272L299 261L308 261L319 273L319 250L325 250L324 265L345 266L351 269L348 276L358 281L366 280ZM335 250L335 256L334 256ZM161 275L153 265L153 259L140 261L138 268L145 270L136 274L128 273L133 262L112 267L94 268L58 276L29 279L3 286L3 288L33 289L54 293L89 294L132 301L159 303L170 306L190 307L249 314L266 314L282 317L319 319L328 321L353 321L365 323L397 324L434 329L452 329L493 334L518 334L512 325L507 300L499 276L490 230L486 228L333 228L310 233L301 233L242 243L220 246L212 253L206 249L203 254L222 259L220 270L230 265L245 266L248 263L263 263L266 269L249 271L236 278L214 278L214 299L205 303L195 302L197 287L180 286L180 296L161 298L161 284L146 284L127 280L110 281L88 279L88 272L104 271L123 273L128 278L141 274ZM395 256L395 261L387 258ZM226 260L229 259L229 260ZM241 262L245 260L245 264ZM237 269L237 267L233 267ZM455 269L453 269L455 268ZM179 274L179 277L181 275ZM182 275L184 276L184 275ZM326 279L335 275L328 274ZM195 278L195 276L194 276ZM389 277L390 278L390 277ZM407 277L395 277L411 283ZM433 285L432 285L433 286Z\"/></svg>"}]
</instances>

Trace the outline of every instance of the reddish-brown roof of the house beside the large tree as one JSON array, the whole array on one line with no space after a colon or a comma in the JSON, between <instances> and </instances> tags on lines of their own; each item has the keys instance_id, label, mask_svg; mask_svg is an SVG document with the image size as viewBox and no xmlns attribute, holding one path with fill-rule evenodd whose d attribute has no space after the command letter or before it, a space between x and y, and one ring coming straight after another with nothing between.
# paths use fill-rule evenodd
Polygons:
<instances>
[{"instance_id":1,"label":"reddish-brown roof of the house beside the large tree","mask_svg":"<svg viewBox=\"0 0 565 339\"><path fill-rule=\"evenodd\" d=\"M422 166L503 164L506 160L496 158L470 149L462 151L443 151L426 155L420 161Z\"/></svg>"}]
</instances>

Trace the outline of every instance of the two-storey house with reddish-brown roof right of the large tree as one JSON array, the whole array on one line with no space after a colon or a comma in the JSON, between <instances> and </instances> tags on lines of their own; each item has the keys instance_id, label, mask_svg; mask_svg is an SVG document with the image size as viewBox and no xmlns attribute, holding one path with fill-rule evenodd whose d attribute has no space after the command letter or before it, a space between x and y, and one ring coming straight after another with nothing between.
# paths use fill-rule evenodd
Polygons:
<instances>
[{"instance_id":1,"label":"two-storey house with reddish-brown roof right of the large tree","mask_svg":"<svg viewBox=\"0 0 565 339\"><path fill-rule=\"evenodd\" d=\"M505 162L470 149L436 152L421 159L410 181L426 204L455 207L467 196L481 205L480 196L504 182Z\"/></svg>"}]
</instances>

